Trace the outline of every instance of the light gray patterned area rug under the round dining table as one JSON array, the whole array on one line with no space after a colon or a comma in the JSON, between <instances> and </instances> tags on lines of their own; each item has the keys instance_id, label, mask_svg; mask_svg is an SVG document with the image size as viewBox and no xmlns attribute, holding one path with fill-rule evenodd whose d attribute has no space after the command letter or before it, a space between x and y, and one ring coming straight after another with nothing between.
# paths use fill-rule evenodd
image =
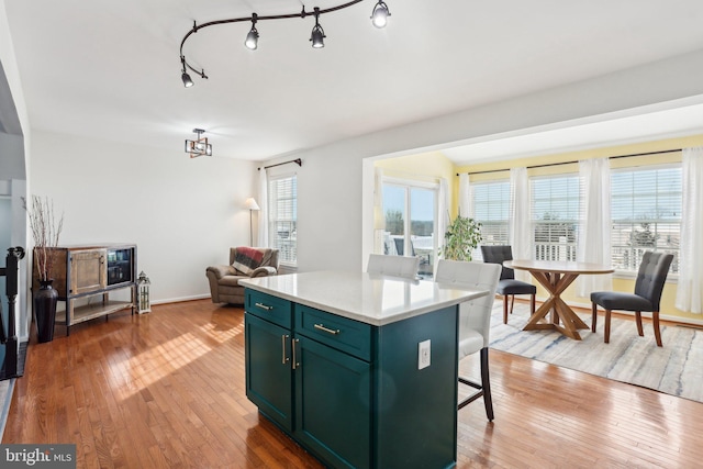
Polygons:
<instances>
[{"instance_id":1,"label":"light gray patterned area rug under the round dining table","mask_svg":"<svg viewBox=\"0 0 703 469\"><path fill-rule=\"evenodd\" d=\"M579 315L591 324L590 313ZM651 323L645 321L645 336L640 337L634 317L613 317L611 342L604 344L603 316L599 315L595 333L579 331L582 340L556 331L522 331L528 317L529 306L515 302L513 314L503 324L502 300L496 300L491 314L491 348L703 402L701 330L662 326L663 347L657 347Z\"/></svg>"}]
</instances>

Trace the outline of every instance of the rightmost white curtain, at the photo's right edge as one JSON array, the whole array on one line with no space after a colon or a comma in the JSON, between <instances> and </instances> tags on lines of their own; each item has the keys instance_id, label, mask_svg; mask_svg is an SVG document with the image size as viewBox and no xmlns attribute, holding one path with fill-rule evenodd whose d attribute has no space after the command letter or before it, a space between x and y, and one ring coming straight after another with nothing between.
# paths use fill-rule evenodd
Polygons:
<instances>
[{"instance_id":1,"label":"rightmost white curtain, at the photo's right edge","mask_svg":"<svg viewBox=\"0 0 703 469\"><path fill-rule=\"evenodd\" d=\"M681 244L676 306L703 313L703 147L684 148Z\"/></svg>"}]
</instances>

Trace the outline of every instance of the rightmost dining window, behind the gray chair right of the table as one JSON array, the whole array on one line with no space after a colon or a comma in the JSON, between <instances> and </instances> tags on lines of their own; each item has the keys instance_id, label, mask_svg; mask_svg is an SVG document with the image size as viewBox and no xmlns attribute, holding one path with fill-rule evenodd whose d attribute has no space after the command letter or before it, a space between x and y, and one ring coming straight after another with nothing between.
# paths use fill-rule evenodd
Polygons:
<instances>
[{"instance_id":1,"label":"rightmost dining window, behind the gray chair right of the table","mask_svg":"<svg viewBox=\"0 0 703 469\"><path fill-rule=\"evenodd\" d=\"M611 172L612 263L634 271L645 250L674 255L679 271L681 238L681 165L617 169Z\"/></svg>"}]
</instances>

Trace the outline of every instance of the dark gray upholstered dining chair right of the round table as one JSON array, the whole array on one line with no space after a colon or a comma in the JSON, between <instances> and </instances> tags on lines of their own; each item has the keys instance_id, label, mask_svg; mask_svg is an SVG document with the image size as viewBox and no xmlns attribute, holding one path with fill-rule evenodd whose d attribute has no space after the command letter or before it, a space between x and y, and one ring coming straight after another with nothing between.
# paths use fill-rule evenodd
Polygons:
<instances>
[{"instance_id":1,"label":"dark gray upholstered dining chair right of the round table","mask_svg":"<svg viewBox=\"0 0 703 469\"><path fill-rule=\"evenodd\" d=\"M634 293L618 291L594 291L591 293L591 331L595 332L598 306L605 310L605 332L603 334L603 342L605 342L605 344L609 344L611 340L611 311L634 311L635 321L637 322L637 333L640 336L645 335L641 328L641 312L651 312L655 338L657 345L661 347L659 302L672 260L673 254L652 253L648 250L641 258Z\"/></svg>"}]
</instances>

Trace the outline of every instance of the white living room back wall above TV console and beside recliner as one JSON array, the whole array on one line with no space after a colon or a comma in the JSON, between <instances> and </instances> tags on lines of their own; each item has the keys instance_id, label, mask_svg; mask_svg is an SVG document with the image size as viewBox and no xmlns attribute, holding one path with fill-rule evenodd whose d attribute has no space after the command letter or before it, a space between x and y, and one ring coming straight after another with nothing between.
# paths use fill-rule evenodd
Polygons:
<instances>
[{"instance_id":1,"label":"white living room back wall above TV console and beside recliner","mask_svg":"<svg viewBox=\"0 0 703 469\"><path fill-rule=\"evenodd\" d=\"M248 245L256 165L34 131L32 193L64 211L60 244L135 243L152 301L209 297L205 267Z\"/></svg>"}]
</instances>

